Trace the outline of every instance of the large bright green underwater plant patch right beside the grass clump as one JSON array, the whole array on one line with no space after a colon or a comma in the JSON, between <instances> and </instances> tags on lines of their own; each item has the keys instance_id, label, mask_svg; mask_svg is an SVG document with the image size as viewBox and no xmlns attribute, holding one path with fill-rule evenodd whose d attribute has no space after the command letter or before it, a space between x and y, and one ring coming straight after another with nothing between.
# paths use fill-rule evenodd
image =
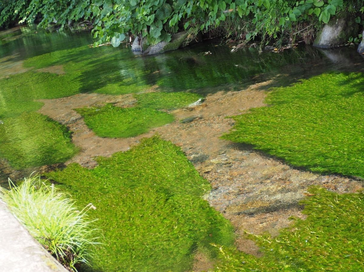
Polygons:
<instances>
[{"instance_id":1,"label":"large bright green underwater plant patch right beside the grass clump","mask_svg":"<svg viewBox=\"0 0 364 272\"><path fill-rule=\"evenodd\" d=\"M48 176L62 183L90 214L105 243L92 266L102 271L187 271L199 249L231 246L233 228L201 197L210 184L181 149L158 137L99 158L94 169L70 165Z\"/></svg>"}]
</instances>

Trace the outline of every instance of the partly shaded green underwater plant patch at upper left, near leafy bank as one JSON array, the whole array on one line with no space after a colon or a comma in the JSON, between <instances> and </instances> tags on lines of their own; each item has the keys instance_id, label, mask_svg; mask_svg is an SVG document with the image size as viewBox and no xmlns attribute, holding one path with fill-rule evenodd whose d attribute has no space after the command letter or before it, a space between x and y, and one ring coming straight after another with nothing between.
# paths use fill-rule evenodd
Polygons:
<instances>
[{"instance_id":1,"label":"partly shaded green underwater plant patch at upper left, near leafy bank","mask_svg":"<svg viewBox=\"0 0 364 272\"><path fill-rule=\"evenodd\" d=\"M62 65L66 74L73 75L80 85L79 92L126 94L141 92L151 85L142 78L142 60L129 50L102 46L80 46L28 58L24 66L47 68Z\"/></svg>"}]
</instances>

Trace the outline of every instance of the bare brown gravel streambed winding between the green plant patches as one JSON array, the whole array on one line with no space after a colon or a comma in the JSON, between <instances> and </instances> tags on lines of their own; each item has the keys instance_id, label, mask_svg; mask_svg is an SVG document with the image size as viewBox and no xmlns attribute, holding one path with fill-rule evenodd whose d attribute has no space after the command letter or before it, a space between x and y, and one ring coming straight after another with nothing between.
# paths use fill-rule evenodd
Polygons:
<instances>
[{"instance_id":1,"label":"bare brown gravel streambed winding between the green plant patches","mask_svg":"<svg viewBox=\"0 0 364 272\"><path fill-rule=\"evenodd\" d=\"M205 199L236 227L238 249L260 256L259 248L245 238L245 232L277 235L281 228L290 224L290 216L304 218L298 202L305 197L309 186L318 185L339 193L355 192L362 187L355 179L293 169L249 147L219 138L233 126L233 120L226 117L265 106L265 88L270 83L208 95L202 105L171 111L176 117L175 122L126 139L96 136L73 109L105 103L131 106L136 102L132 94L78 94L44 100L39 112L73 131L72 141L81 151L66 164L76 162L94 167L94 157L128 150L141 138L155 133L180 146L213 187Z\"/></svg>"}]
</instances>

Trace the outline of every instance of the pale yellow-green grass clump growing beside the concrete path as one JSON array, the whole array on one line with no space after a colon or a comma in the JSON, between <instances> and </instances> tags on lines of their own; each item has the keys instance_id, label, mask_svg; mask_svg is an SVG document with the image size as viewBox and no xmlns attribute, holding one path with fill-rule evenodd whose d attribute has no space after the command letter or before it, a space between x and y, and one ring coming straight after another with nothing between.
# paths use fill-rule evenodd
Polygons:
<instances>
[{"instance_id":1,"label":"pale yellow-green grass clump growing beside the concrete path","mask_svg":"<svg viewBox=\"0 0 364 272\"><path fill-rule=\"evenodd\" d=\"M95 247L95 220L87 212L95 208L88 204L79 211L67 194L46 184L40 177L30 176L15 186L9 180L10 190L0 187L0 199L60 263L77 271L80 263L90 264L91 248Z\"/></svg>"}]
</instances>

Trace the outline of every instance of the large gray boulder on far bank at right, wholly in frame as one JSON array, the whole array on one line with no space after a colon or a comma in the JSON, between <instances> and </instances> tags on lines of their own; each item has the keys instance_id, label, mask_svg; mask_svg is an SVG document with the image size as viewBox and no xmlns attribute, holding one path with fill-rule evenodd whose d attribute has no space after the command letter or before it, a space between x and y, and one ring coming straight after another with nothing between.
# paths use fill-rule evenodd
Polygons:
<instances>
[{"instance_id":1,"label":"large gray boulder on far bank at right, wholly in frame","mask_svg":"<svg viewBox=\"0 0 364 272\"><path fill-rule=\"evenodd\" d=\"M348 13L331 18L328 24L317 34L313 46L320 48L331 48L347 43L350 37L356 37L359 24L355 18Z\"/></svg>"}]
</instances>

